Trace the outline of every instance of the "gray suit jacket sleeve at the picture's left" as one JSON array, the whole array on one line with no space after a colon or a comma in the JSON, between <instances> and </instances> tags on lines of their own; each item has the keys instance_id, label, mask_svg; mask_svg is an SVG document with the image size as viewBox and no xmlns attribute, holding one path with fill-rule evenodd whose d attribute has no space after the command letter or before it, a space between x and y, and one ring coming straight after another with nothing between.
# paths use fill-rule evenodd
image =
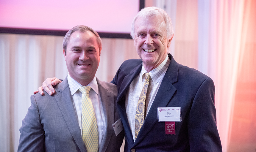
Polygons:
<instances>
[{"instance_id":1,"label":"gray suit jacket sleeve at the picture's left","mask_svg":"<svg viewBox=\"0 0 256 152\"><path fill-rule=\"evenodd\" d=\"M20 151L44 151L44 130L40 121L38 106L35 95L30 96L31 106L20 128L20 140L18 152Z\"/></svg>"}]
</instances>

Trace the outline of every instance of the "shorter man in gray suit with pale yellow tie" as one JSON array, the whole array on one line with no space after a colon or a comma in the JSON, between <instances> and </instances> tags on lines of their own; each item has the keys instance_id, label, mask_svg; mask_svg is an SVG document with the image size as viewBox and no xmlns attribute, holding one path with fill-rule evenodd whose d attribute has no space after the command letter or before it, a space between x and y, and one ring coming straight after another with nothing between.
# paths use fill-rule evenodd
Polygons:
<instances>
[{"instance_id":1,"label":"shorter man in gray suit with pale yellow tie","mask_svg":"<svg viewBox=\"0 0 256 152\"><path fill-rule=\"evenodd\" d=\"M113 124L116 85L95 77L102 41L88 26L75 26L65 35L63 55L68 75L56 94L31 96L20 128L18 151L120 151L124 131Z\"/></svg>"}]
</instances>

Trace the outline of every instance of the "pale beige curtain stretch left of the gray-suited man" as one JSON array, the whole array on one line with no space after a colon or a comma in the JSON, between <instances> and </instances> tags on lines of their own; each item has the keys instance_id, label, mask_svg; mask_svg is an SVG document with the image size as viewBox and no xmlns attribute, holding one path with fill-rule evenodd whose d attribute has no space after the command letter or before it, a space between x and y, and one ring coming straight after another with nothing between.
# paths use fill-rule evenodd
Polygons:
<instances>
[{"instance_id":1,"label":"pale beige curtain stretch left of the gray-suited man","mask_svg":"<svg viewBox=\"0 0 256 152\"><path fill-rule=\"evenodd\" d=\"M17 151L33 91L46 77L65 78L62 41L58 36L0 34L1 151Z\"/></svg>"}]
</instances>

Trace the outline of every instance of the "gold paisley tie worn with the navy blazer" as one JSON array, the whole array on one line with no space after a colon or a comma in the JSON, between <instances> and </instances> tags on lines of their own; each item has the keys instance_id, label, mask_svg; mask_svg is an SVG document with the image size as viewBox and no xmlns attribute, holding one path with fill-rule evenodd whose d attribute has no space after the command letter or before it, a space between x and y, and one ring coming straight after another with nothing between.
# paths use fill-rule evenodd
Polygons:
<instances>
[{"instance_id":1,"label":"gold paisley tie worn with the navy blazer","mask_svg":"<svg viewBox=\"0 0 256 152\"><path fill-rule=\"evenodd\" d=\"M146 94L149 86L149 78L150 78L150 75L147 72L145 76L144 86L141 91L141 95L139 97L139 101L137 104L137 110L135 115L135 139L137 138L141 130L141 126L143 125L144 119L145 119L144 118L145 117L145 101L146 101Z\"/></svg>"}]
</instances>

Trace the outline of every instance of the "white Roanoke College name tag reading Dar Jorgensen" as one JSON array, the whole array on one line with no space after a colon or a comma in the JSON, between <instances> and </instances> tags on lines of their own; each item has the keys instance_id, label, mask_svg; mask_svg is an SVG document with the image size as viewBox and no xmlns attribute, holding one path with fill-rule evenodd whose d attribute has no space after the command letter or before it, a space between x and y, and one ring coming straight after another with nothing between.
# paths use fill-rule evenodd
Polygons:
<instances>
[{"instance_id":1,"label":"white Roanoke College name tag reading Dar Jorgensen","mask_svg":"<svg viewBox=\"0 0 256 152\"><path fill-rule=\"evenodd\" d=\"M180 107L158 107L157 108L157 121L181 121Z\"/></svg>"}]
</instances>

